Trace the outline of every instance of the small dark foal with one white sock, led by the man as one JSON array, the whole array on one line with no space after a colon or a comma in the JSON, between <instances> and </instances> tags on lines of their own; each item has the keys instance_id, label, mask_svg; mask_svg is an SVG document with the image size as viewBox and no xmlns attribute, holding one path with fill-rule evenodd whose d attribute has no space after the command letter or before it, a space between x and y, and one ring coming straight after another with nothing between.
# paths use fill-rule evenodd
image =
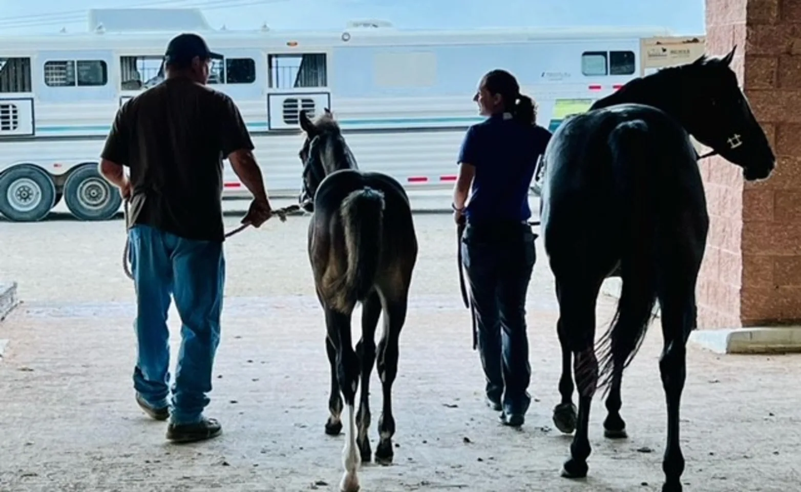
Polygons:
<instances>
[{"instance_id":1,"label":"small dark foal with one white sock, led by the man","mask_svg":"<svg viewBox=\"0 0 801 492\"><path fill-rule=\"evenodd\" d=\"M331 416L325 432L337 435L342 430L341 391L348 405L348 431L340 487L354 492L359 490L356 470L360 461L371 458L369 382L376 361L374 335L382 311L384 333L378 342L377 369L384 407L378 419L376 462L392 462L392 382L417 262L417 235L403 187L388 175L358 169L328 109L313 123L301 111L300 127L306 132L300 150L304 165L300 201L308 212L314 212L308 229L308 256L317 298L325 311L331 363ZM362 304L361 340L354 351L351 315L357 302ZM359 411L354 415L360 378Z\"/></svg>"}]
</instances>

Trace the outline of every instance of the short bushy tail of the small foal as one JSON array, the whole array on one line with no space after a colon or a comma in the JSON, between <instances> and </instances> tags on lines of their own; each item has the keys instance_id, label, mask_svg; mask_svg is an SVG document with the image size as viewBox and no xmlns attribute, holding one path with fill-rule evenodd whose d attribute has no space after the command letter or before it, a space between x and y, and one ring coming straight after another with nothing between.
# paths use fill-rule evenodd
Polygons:
<instances>
[{"instance_id":1,"label":"short bushy tail of the small foal","mask_svg":"<svg viewBox=\"0 0 801 492\"><path fill-rule=\"evenodd\" d=\"M332 308L349 313L356 302L368 296L376 280L384 232L384 193L369 187L351 192L342 200L340 214L348 267Z\"/></svg>"}]
</instances>

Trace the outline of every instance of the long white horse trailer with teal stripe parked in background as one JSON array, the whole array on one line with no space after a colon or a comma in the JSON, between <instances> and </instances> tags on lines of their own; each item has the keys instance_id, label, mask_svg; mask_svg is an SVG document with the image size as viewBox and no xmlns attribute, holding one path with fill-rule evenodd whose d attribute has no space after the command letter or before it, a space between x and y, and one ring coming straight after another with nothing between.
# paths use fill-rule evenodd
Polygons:
<instances>
[{"instance_id":1,"label":"long white horse trailer with teal stripe parked in background","mask_svg":"<svg viewBox=\"0 0 801 492\"><path fill-rule=\"evenodd\" d=\"M557 126L640 75L642 38L662 28L398 30L211 29L199 10L92 10L85 33L0 37L0 213L46 216L62 198L81 220L119 212L97 172L119 105L163 79L168 40L195 31L225 56L209 83L235 100L256 143L271 196L300 189L298 111L330 108L363 169L409 190L449 188L465 129L481 121L481 75L504 68ZM148 26L159 26L158 30ZM225 166L223 198L249 194Z\"/></svg>"}]
</instances>

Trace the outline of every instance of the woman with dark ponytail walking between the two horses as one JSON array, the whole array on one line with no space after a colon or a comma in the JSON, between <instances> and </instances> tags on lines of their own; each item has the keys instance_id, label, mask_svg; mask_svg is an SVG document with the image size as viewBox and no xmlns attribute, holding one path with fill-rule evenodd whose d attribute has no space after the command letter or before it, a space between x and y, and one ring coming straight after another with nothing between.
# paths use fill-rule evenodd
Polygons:
<instances>
[{"instance_id":1,"label":"woman with dark ponytail walking between the two horses","mask_svg":"<svg viewBox=\"0 0 801 492\"><path fill-rule=\"evenodd\" d=\"M461 248L487 403L502 411L505 425L519 426L531 401L525 294L536 236L528 224L529 185L551 133L537 126L532 99L507 71L485 75L473 101L488 118L470 127L461 144L454 218L467 222Z\"/></svg>"}]
</instances>

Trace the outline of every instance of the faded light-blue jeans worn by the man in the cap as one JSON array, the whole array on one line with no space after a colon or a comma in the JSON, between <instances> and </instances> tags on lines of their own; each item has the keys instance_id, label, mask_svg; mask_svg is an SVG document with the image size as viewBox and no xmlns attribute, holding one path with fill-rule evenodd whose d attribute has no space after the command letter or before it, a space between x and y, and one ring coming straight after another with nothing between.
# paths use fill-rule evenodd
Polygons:
<instances>
[{"instance_id":1,"label":"faded light-blue jeans worn by the man in the cap","mask_svg":"<svg viewBox=\"0 0 801 492\"><path fill-rule=\"evenodd\" d=\"M167 406L167 310L172 295L182 325L171 420L175 424L198 422L209 403L206 393L211 391L211 366L219 345L225 282L223 244L187 240L147 225L135 225L128 236L136 288L134 389L148 404Z\"/></svg>"}]
</instances>

